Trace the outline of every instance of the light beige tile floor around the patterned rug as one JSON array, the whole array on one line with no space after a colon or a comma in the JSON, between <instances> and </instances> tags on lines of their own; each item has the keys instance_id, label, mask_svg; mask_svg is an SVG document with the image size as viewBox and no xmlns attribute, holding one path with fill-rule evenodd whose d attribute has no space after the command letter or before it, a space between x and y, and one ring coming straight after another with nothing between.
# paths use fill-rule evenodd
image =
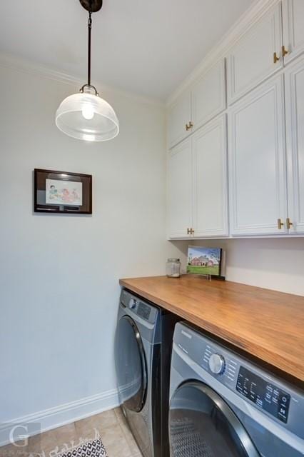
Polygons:
<instances>
[{"instance_id":1,"label":"light beige tile floor around the patterned rug","mask_svg":"<svg viewBox=\"0 0 304 457\"><path fill-rule=\"evenodd\" d=\"M89 418L69 423L66 426L46 431L29 438L26 448L17 448L10 444L0 448L0 457L49 457L51 451L64 451L67 446L76 445L81 438L95 438L95 429L100 433L108 457L141 457L136 442L131 434L121 408L91 416ZM57 448L57 449L56 449Z\"/></svg>"}]
</instances>

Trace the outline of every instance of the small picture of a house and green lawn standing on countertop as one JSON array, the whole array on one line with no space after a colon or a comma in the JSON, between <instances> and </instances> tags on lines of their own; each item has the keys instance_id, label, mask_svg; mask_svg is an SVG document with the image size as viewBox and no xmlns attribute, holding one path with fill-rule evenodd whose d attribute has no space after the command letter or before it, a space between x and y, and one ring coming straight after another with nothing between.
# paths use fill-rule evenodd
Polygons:
<instances>
[{"instance_id":1,"label":"small picture of a house and green lawn standing on countertop","mask_svg":"<svg viewBox=\"0 0 304 457\"><path fill-rule=\"evenodd\" d=\"M188 246L187 273L221 275L221 248Z\"/></svg>"}]
</instances>

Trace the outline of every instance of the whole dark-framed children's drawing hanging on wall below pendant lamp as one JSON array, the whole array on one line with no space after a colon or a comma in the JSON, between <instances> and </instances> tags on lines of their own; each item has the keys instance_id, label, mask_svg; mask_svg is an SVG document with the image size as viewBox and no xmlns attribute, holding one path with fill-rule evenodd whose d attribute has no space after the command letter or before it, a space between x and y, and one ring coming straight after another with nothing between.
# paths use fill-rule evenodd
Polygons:
<instances>
[{"instance_id":1,"label":"whole dark-framed children's drawing hanging on wall below pendant lamp","mask_svg":"<svg viewBox=\"0 0 304 457\"><path fill-rule=\"evenodd\" d=\"M92 214L92 175L35 169L34 211Z\"/></svg>"}]
</instances>

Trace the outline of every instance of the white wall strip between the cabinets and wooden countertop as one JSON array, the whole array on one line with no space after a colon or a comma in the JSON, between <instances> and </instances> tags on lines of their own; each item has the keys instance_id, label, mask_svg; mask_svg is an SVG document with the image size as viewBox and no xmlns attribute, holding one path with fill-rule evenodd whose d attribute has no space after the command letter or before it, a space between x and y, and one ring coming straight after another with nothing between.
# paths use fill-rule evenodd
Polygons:
<instances>
[{"instance_id":1,"label":"white wall strip between the cabinets and wooden countertop","mask_svg":"<svg viewBox=\"0 0 304 457\"><path fill-rule=\"evenodd\" d=\"M304 238L193 241L226 251L226 279L304 295Z\"/></svg>"}]
</instances>

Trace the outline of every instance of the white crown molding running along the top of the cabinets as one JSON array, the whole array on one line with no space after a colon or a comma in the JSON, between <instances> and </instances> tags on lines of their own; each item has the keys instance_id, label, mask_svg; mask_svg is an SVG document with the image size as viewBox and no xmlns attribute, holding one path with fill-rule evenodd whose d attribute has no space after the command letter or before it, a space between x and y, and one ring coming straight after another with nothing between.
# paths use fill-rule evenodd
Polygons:
<instances>
[{"instance_id":1,"label":"white crown molding running along the top of the cabinets","mask_svg":"<svg viewBox=\"0 0 304 457\"><path fill-rule=\"evenodd\" d=\"M233 24L228 32L221 38L218 43L213 46L211 51L204 57L198 66L196 66L191 74L177 87L173 93L168 96L166 100L166 106L169 106L180 96L183 91L189 89L189 87L196 82L198 78L203 76L208 69L211 68L219 59L223 59L228 54L228 51L235 45L243 34L250 29L269 9L280 3L280 0L257 0L255 4L245 11L240 16L240 19Z\"/></svg>"}]
</instances>

